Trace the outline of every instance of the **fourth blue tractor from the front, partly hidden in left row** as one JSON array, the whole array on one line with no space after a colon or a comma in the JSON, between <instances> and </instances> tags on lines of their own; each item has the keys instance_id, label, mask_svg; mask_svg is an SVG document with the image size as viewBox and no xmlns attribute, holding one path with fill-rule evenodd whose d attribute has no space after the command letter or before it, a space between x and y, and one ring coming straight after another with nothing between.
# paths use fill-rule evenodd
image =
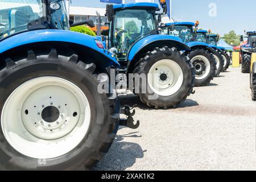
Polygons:
<instances>
[{"instance_id":1,"label":"fourth blue tractor from the front, partly hidden in left row","mask_svg":"<svg viewBox=\"0 0 256 182\"><path fill-rule=\"evenodd\" d=\"M207 30L195 30L195 34L196 34L195 35L196 41L208 43L208 39L207 39L208 31ZM217 63L217 65L216 65L217 69L215 72L215 76L218 76L224 69L224 62L225 62L224 56L222 55L222 51L221 51L220 47L215 46L213 44L208 44L208 45L214 50L213 56Z\"/></svg>"}]
</instances>

